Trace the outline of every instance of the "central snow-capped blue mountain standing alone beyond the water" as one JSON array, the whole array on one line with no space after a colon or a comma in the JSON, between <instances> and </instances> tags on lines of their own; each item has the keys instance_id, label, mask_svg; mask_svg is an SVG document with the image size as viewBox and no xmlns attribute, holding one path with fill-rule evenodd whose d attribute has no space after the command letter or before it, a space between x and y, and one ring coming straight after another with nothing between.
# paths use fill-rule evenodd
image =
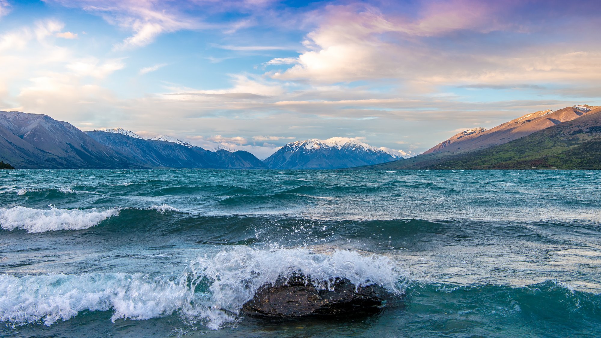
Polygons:
<instances>
[{"instance_id":1,"label":"central snow-capped blue mountain standing alone beyond the water","mask_svg":"<svg viewBox=\"0 0 601 338\"><path fill-rule=\"evenodd\" d=\"M396 155L356 139L334 137L290 142L264 162L272 169L337 169L395 159Z\"/></svg>"}]
</instances>

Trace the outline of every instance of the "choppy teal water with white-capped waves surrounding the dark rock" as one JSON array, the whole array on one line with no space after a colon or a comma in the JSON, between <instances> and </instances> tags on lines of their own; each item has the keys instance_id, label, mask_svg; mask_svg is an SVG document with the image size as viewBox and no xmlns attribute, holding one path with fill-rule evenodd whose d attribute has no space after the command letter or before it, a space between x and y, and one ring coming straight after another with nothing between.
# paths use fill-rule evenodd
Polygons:
<instances>
[{"instance_id":1,"label":"choppy teal water with white-capped waves surrounding the dark rock","mask_svg":"<svg viewBox=\"0 0 601 338\"><path fill-rule=\"evenodd\" d=\"M601 173L0 171L0 336L601 334ZM375 315L245 318L261 284Z\"/></svg>"}]
</instances>

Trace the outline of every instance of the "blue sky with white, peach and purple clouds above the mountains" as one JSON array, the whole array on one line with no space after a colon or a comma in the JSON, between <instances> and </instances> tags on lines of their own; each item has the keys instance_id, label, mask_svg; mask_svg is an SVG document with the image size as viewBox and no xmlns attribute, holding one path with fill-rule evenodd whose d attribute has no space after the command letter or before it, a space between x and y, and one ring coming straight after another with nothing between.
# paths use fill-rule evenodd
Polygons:
<instances>
[{"instance_id":1,"label":"blue sky with white, peach and purple clouds above the mountains","mask_svg":"<svg viewBox=\"0 0 601 338\"><path fill-rule=\"evenodd\" d=\"M601 105L601 2L0 0L0 110L266 158Z\"/></svg>"}]
</instances>

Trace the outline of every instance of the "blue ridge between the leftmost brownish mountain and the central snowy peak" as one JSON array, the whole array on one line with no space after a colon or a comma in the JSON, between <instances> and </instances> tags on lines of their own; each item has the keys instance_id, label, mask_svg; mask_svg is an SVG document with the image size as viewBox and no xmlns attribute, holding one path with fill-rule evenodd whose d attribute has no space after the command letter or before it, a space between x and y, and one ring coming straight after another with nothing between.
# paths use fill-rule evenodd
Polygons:
<instances>
[{"instance_id":1,"label":"blue ridge between the leftmost brownish mountain and the central snowy peak","mask_svg":"<svg viewBox=\"0 0 601 338\"><path fill-rule=\"evenodd\" d=\"M209 152L201 147L188 147L182 144L143 140L127 135L91 131L86 132L99 143L138 165L151 168L264 168L265 165L249 152L230 153L227 150Z\"/></svg>"}]
</instances>

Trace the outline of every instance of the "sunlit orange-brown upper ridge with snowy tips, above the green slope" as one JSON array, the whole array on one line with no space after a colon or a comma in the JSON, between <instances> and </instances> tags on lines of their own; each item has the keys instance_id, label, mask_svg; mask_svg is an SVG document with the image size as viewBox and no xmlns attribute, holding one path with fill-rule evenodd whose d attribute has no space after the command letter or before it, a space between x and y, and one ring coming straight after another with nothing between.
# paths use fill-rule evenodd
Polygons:
<instances>
[{"instance_id":1,"label":"sunlit orange-brown upper ridge with snowy tips, above the green slope","mask_svg":"<svg viewBox=\"0 0 601 338\"><path fill-rule=\"evenodd\" d=\"M523 115L514 120L499 124L495 128L486 130L484 128L470 129L453 135L448 140L437 144L424 154L438 152L470 152L478 149L504 144L509 141L525 137L533 132L540 131L555 124L572 121L582 115L599 111L600 107L588 105L573 106L552 111L537 111Z\"/></svg>"}]
</instances>

